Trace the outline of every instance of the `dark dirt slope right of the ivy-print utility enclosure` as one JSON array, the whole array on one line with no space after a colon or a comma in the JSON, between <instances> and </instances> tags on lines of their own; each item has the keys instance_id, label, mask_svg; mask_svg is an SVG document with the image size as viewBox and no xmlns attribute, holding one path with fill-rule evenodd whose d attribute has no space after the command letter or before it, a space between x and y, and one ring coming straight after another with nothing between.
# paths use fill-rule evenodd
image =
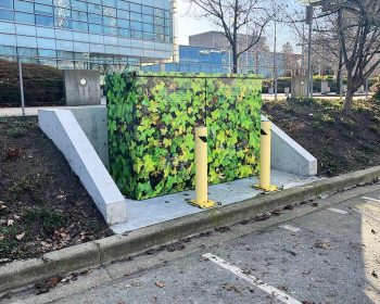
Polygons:
<instances>
[{"instance_id":1,"label":"dark dirt slope right of the ivy-print utility enclosure","mask_svg":"<svg viewBox=\"0 0 380 304\"><path fill-rule=\"evenodd\" d=\"M266 102L263 112L318 159L318 173L335 176L380 164L380 103L355 101L350 115L339 100Z\"/></svg>"}]
</instances>

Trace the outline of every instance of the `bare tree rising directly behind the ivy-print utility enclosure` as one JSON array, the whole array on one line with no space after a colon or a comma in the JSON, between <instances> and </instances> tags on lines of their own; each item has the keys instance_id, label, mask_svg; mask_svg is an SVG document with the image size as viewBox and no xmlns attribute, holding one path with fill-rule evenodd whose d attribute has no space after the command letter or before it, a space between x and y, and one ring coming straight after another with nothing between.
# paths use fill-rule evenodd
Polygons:
<instances>
[{"instance_id":1,"label":"bare tree rising directly behind the ivy-print utility enclosure","mask_svg":"<svg viewBox=\"0 0 380 304\"><path fill-rule=\"evenodd\" d=\"M223 29L230 45L232 73L238 73L241 54L255 46L273 17L265 0L189 0L200 10L200 15ZM242 41L244 41L242 43Z\"/></svg>"}]
</instances>

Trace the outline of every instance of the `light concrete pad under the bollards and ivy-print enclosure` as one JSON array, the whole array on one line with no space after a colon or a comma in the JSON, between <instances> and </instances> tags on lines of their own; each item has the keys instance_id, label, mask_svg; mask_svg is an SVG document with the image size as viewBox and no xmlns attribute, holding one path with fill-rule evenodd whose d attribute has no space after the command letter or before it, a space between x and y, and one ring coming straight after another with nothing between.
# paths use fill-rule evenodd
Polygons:
<instances>
[{"instance_id":1,"label":"light concrete pad under the bollards and ivy-print enclosure","mask_svg":"<svg viewBox=\"0 0 380 304\"><path fill-rule=\"evenodd\" d=\"M317 179L316 177L305 178L277 170L271 172L273 183L287 189L305 185ZM208 187L208 198L221 205L252 199L263 192L253 188L257 182L258 178L252 177L213 185ZM204 210L188 203L188 200L194 199L194 191L183 191L143 201L126 199L126 207L128 211L127 223L113 225L111 229L115 233L124 233L165 220L203 212Z\"/></svg>"}]
</instances>

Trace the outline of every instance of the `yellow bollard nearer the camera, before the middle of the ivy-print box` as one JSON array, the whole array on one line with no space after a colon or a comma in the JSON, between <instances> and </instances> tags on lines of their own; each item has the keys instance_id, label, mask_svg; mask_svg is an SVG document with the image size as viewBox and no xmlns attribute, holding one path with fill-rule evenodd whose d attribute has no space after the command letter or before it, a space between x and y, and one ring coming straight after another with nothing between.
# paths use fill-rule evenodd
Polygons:
<instances>
[{"instance_id":1,"label":"yellow bollard nearer the camera, before the middle of the ivy-print box","mask_svg":"<svg viewBox=\"0 0 380 304\"><path fill-rule=\"evenodd\" d=\"M210 208L216 205L207 199L207 128L195 127L195 200L190 204Z\"/></svg>"}]
</instances>

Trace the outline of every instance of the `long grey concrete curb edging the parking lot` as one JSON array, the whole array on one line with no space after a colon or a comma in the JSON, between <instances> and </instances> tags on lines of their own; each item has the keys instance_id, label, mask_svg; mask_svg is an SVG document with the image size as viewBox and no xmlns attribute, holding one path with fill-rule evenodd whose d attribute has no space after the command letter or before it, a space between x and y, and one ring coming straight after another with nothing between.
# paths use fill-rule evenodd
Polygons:
<instances>
[{"instance_id":1,"label":"long grey concrete curb edging the parking lot","mask_svg":"<svg viewBox=\"0 0 380 304\"><path fill-rule=\"evenodd\" d=\"M322 193L335 192L379 178L380 166L376 166L175 218L131 231L126 236L112 236L49 252L39 258L15 261L0 267L0 293L58 275L98 267L208 229L248 220L280 206L300 203Z\"/></svg>"}]
</instances>

